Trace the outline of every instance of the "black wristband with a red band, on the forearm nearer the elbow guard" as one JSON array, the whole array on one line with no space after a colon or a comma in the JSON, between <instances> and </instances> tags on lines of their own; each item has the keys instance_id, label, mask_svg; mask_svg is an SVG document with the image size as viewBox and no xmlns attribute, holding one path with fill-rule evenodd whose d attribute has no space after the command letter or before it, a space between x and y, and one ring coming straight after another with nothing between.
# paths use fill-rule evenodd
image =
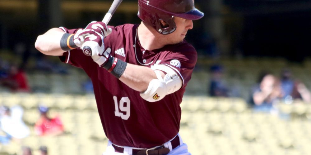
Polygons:
<instances>
[{"instance_id":1,"label":"black wristband with a red band, on the forearm nearer the elbow guard","mask_svg":"<svg viewBox=\"0 0 311 155\"><path fill-rule=\"evenodd\" d=\"M120 78L121 75L124 73L127 64L128 63L126 63L122 60L119 60L118 58L114 58L114 57L110 56L107 63L104 64L102 67L104 69L107 69L108 72L110 72L116 78Z\"/></svg>"}]
</instances>

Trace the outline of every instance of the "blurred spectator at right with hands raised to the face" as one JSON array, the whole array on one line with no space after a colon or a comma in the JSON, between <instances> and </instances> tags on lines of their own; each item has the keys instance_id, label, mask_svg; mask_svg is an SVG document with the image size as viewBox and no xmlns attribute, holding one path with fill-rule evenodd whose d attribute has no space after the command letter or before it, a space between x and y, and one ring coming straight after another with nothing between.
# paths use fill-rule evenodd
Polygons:
<instances>
[{"instance_id":1,"label":"blurred spectator at right with hands raised to the face","mask_svg":"<svg viewBox=\"0 0 311 155\"><path fill-rule=\"evenodd\" d=\"M260 83L253 90L254 109L255 111L270 112L273 103L283 97L281 82L270 73L263 73L260 79Z\"/></svg>"}]
</instances>

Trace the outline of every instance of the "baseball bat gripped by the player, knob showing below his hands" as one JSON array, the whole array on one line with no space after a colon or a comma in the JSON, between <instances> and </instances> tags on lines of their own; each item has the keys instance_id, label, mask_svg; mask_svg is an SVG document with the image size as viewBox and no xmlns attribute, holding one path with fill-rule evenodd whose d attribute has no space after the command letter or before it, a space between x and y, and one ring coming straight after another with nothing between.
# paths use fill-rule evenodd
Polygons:
<instances>
[{"instance_id":1,"label":"baseball bat gripped by the player, knob showing below his hands","mask_svg":"<svg viewBox=\"0 0 311 155\"><path fill-rule=\"evenodd\" d=\"M114 0L114 2L112 2L108 12L104 16L104 19L102 20L103 23L105 23L106 25L109 23L112 15L117 10L117 8L121 4L121 2L122 2L122 0ZM84 54L86 54L86 53L91 54L92 53L91 47L88 47L88 46L83 47L82 51Z\"/></svg>"}]
</instances>

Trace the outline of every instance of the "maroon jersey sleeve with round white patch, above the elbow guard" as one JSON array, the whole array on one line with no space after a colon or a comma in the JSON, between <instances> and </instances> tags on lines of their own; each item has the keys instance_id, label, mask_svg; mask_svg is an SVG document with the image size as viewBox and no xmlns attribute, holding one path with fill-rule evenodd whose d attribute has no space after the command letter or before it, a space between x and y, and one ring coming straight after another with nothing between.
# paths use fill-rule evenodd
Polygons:
<instances>
[{"instance_id":1,"label":"maroon jersey sleeve with round white patch, above the elbow guard","mask_svg":"<svg viewBox=\"0 0 311 155\"><path fill-rule=\"evenodd\" d=\"M178 48L170 52L159 64L172 68L183 80L182 87L184 87L191 79L191 74L196 63L197 51L191 45L186 45L183 48Z\"/></svg>"}]
</instances>

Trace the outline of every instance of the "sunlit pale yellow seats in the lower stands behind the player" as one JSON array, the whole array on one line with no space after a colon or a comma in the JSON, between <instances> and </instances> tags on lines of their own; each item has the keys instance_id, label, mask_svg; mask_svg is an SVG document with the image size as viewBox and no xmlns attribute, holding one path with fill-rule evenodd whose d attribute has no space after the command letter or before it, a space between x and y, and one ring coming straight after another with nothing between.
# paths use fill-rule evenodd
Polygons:
<instances>
[{"instance_id":1,"label":"sunlit pale yellow seats in the lower stands behind the player","mask_svg":"<svg viewBox=\"0 0 311 155\"><path fill-rule=\"evenodd\" d=\"M49 101L44 104L51 108L50 115L60 115L63 135L34 134L33 125L39 118L37 106L42 101ZM46 145L50 155L100 154L105 150L107 138L92 95L1 93L0 104L22 105L23 119L31 129L29 137L0 145L0 154L19 154L23 145L30 146L35 154L40 145ZM185 96L181 107L180 134L192 154L305 155L311 151L309 104L280 103L276 105L278 113L272 115L254 113L241 98Z\"/></svg>"}]
</instances>

